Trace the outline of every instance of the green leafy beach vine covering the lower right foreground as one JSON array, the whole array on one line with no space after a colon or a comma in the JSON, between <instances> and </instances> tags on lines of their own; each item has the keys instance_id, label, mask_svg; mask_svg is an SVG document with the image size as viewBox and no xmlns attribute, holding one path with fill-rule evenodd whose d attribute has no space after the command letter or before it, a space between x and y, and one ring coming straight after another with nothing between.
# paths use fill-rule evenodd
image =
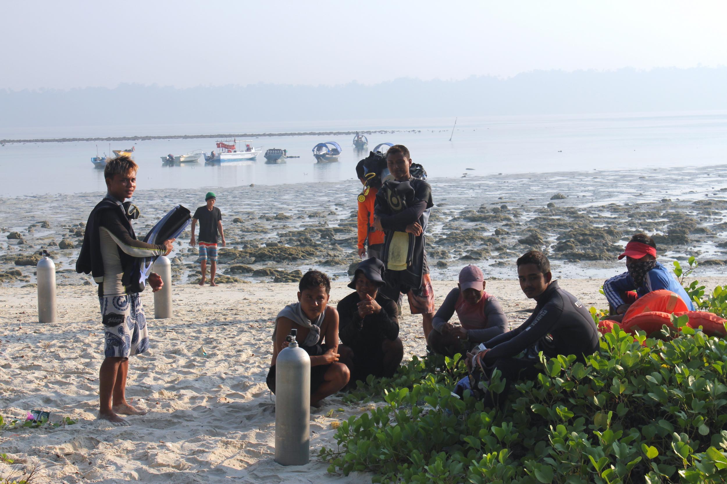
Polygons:
<instances>
[{"instance_id":1,"label":"green leafy beach vine covering the lower right foreground","mask_svg":"<svg viewBox=\"0 0 727 484\"><path fill-rule=\"evenodd\" d=\"M686 287L725 316L727 287ZM348 401L383 398L340 422L319 456L374 483L723 483L727 340L675 324L661 339L615 325L585 364L541 353L542 374L514 385L503 410L451 394L461 356L414 357L391 379L359 382ZM502 386L496 372L489 390Z\"/></svg>"}]
</instances>

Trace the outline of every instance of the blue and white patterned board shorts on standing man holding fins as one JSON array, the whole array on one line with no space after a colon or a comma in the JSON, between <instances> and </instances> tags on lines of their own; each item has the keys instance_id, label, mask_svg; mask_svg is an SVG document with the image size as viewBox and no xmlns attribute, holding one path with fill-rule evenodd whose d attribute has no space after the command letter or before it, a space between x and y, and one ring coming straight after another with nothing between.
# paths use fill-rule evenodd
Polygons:
<instances>
[{"instance_id":1,"label":"blue and white patterned board shorts on standing man holding fins","mask_svg":"<svg viewBox=\"0 0 727 484\"><path fill-rule=\"evenodd\" d=\"M149 332L139 293L98 298L103 316L103 353L128 359L149 349Z\"/></svg>"}]
</instances>

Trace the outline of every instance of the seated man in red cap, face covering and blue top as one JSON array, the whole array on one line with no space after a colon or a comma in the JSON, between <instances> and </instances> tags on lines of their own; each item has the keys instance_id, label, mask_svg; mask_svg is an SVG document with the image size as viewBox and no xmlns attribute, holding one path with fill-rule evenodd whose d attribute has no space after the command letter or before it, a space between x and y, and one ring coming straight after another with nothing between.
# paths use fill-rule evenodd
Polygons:
<instances>
[{"instance_id":1,"label":"seated man in red cap, face covering and blue top","mask_svg":"<svg viewBox=\"0 0 727 484\"><path fill-rule=\"evenodd\" d=\"M630 305L649 292L661 289L678 295L689 311L694 311L689 295L672 274L672 271L656 261L656 242L646 234L635 234L626 245L619 261L626 258L626 272L603 282L603 294L611 306L609 317L621 321Z\"/></svg>"}]
</instances>

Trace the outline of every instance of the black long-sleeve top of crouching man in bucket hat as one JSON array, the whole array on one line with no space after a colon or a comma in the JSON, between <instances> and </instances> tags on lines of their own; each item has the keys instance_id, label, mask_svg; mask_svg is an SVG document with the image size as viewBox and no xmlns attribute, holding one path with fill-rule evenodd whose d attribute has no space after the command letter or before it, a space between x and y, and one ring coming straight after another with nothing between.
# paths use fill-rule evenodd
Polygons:
<instances>
[{"instance_id":1,"label":"black long-sleeve top of crouching man in bucket hat","mask_svg":"<svg viewBox=\"0 0 727 484\"><path fill-rule=\"evenodd\" d=\"M350 348L370 348L379 350L381 343L395 340L399 335L398 308L380 292L376 302L381 306L378 314L369 314L365 318L358 315L358 303L361 298L358 292L352 292L338 303L338 337Z\"/></svg>"}]
</instances>

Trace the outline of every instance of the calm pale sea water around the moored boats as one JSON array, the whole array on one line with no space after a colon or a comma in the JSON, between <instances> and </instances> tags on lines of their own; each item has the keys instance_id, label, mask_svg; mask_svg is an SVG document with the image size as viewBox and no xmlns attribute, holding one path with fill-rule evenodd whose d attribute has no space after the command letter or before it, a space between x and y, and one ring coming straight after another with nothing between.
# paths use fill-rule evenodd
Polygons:
<instances>
[{"instance_id":1,"label":"calm pale sea water around the moored boats","mask_svg":"<svg viewBox=\"0 0 727 484\"><path fill-rule=\"evenodd\" d=\"M316 123L183 124L169 126L76 126L16 128L0 139L215 133L289 133L375 130L369 149L388 141L409 147L412 159L433 179L497 173L661 170L659 178L675 179L671 168L704 167L727 162L727 112L671 112L573 116L511 116L454 119L328 121ZM452 136L452 141L449 137ZM90 162L98 152L134 146L140 189L194 189L342 181L355 176L358 160L353 136L260 136L255 147L288 149L282 165L256 161L206 166L165 167L161 157L195 149L210 152L215 139L67 143L8 143L0 146L0 193L55 194L105 189L103 172ZM343 151L337 163L315 163L311 153L321 141L337 141ZM604 186L604 188L606 188ZM629 186L619 186L623 194Z\"/></svg>"}]
</instances>

